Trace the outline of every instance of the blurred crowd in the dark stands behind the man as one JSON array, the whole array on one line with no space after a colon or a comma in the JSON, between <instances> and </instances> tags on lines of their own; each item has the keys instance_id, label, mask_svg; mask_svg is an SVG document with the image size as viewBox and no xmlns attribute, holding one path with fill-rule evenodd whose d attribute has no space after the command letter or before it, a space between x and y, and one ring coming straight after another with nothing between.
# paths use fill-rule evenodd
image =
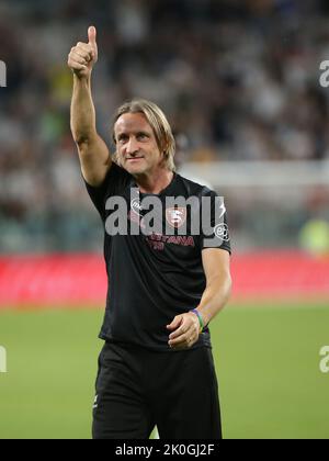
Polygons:
<instances>
[{"instance_id":1,"label":"blurred crowd in the dark stands behind the man","mask_svg":"<svg viewBox=\"0 0 329 461\"><path fill-rule=\"evenodd\" d=\"M329 158L325 0L11 0L0 3L0 251L94 247L69 128L67 55L98 29L98 127L154 100L188 139L178 160ZM93 221L94 220L94 221Z\"/></svg>"}]
</instances>

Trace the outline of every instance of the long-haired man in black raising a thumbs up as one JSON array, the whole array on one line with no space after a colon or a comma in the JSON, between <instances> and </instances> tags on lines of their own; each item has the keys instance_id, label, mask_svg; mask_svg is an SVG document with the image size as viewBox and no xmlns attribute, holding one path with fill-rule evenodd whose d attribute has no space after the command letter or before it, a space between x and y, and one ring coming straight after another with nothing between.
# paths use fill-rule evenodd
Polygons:
<instances>
[{"instance_id":1,"label":"long-haired man in black raising a thumbs up","mask_svg":"<svg viewBox=\"0 0 329 461\"><path fill-rule=\"evenodd\" d=\"M71 131L106 231L109 293L93 438L146 439L157 425L164 439L220 439L207 325L226 304L231 285L224 204L174 172L172 132L151 102L135 100L118 109L112 160L97 133L91 95L95 29L89 27L88 35L89 43L71 48L68 65L73 72ZM168 207L170 198L194 198L195 206ZM186 225L203 214L203 199L213 199L212 226L215 215L224 217L216 226L220 240L204 229L192 234L193 223ZM145 200L156 203L158 220L148 220ZM158 221L158 231L148 232L151 221ZM159 231L159 221L167 234ZM179 234L184 226L184 235Z\"/></svg>"}]
</instances>

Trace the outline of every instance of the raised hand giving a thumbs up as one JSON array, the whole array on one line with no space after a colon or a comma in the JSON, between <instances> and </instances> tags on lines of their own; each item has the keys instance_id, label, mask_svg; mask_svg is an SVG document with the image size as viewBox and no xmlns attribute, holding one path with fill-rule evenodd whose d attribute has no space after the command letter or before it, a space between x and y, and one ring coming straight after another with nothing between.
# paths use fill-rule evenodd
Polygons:
<instances>
[{"instance_id":1,"label":"raised hand giving a thumbs up","mask_svg":"<svg viewBox=\"0 0 329 461\"><path fill-rule=\"evenodd\" d=\"M77 43L68 55L68 66L78 78L90 77L92 68L98 61L99 53L94 26L88 29L88 43Z\"/></svg>"}]
</instances>

